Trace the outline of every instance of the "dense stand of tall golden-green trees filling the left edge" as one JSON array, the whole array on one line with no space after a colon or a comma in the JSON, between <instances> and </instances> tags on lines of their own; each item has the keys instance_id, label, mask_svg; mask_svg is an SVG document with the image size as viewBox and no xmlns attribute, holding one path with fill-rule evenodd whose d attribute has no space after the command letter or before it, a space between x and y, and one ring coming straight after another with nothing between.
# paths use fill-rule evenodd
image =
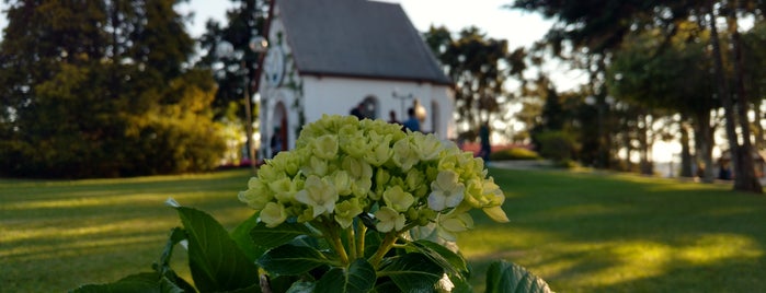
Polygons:
<instances>
[{"instance_id":1,"label":"dense stand of tall golden-green trees filling the left edge","mask_svg":"<svg viewBox=\"0 0 766 293\"><path fill-rule=\"evenodd\" d=\"M0 44L0 173L202 171L222 151L210 73L190 70L179 1L14 1Z\"/></svg>"}]
</instances>

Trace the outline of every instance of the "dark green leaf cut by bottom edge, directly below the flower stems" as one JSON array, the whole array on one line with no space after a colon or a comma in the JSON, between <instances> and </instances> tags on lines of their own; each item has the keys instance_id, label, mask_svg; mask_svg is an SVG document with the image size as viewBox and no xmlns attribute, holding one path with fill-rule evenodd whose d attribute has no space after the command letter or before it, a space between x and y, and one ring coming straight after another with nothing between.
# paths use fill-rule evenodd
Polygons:
<instances>
[{"instance_id":1,"label":"dark green leaf cut by bottom edge, directly below the flower stems","mask_svg":"<svg viewBox=\"0 0 766 293\"><path fill-rule=\"evenodd\" d=\"M375 285L375 269L367 260L357 259L345 268L333 268L317 282L316 292L368 292Z\"/></svg>"}]
</instances>

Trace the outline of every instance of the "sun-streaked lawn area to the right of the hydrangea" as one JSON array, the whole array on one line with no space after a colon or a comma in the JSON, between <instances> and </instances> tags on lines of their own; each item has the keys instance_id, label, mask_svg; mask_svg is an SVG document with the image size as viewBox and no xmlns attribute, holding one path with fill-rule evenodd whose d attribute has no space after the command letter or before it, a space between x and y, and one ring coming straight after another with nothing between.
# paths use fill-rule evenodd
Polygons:
<instances>
[{"instance_id":1,"label":"sun-streaked lawn area to the right of the hydrangea","mask_svg":"<svg viewBox=\"0 0 766 293\"><path fill-rule=\"evenodd\" d=\"M558 292L766 292L766 196L637 175L491 175L511 223L477 213L458 239L480 278L506 259Z\"/></svg>"}]
</instances>

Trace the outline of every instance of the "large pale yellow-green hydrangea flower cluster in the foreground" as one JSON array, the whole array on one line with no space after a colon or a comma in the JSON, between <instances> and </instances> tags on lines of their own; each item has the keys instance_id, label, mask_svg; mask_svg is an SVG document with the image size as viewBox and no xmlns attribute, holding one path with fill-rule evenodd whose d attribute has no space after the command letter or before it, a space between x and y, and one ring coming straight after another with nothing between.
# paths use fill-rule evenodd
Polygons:
<instances>
[{"instance_id":1,"label":"large pale yellow-green hydrangea flower cluster in the foreground","mask_svg":"<svg viewBox=\"0 0 766 293\"><path fill-rule=\"evenodd\" d=\"M435 224L454 241L471 227L470 209L507 222L505 197L480 157L434 134L354 116L324 115L306 125L296 149L266 161L239 199L270 227L309 222L332 232L363 221L399 235Z\"/></svg>"}]
</instances>

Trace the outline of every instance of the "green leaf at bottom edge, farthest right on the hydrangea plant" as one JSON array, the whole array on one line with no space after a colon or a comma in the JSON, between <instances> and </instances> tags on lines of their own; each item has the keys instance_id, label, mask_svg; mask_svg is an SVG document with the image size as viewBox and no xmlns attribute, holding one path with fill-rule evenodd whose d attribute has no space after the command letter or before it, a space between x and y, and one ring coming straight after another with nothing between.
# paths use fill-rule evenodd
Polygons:
<instances>
[{"instance_id":1,"label":"green leaf at bottom edge, farthest right on the hydrangea plant","mask_svg":"<svg viewBox=\"0 0 766 293\"><path fill-rule=\"evenodd\" d=\"M487 293L552 292L546 281L527 269L504 260L492 262L487 270Z\"/></svg>"}]
</instances>

